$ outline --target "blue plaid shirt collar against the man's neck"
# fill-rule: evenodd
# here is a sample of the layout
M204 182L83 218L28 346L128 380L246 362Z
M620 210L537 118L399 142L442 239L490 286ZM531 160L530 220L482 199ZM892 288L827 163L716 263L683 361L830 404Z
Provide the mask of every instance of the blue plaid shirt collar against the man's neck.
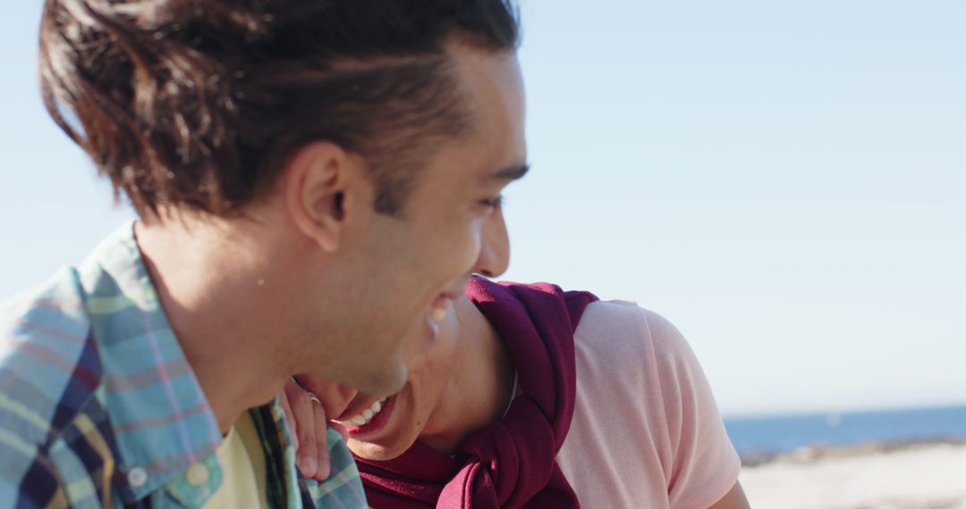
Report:
M117 484L125 498L140 499L210 463L221 433L158 301L133 222L104 239L78 275L118 446ZM215 471L199 487L202 498L220 482L216 462L209 466Z

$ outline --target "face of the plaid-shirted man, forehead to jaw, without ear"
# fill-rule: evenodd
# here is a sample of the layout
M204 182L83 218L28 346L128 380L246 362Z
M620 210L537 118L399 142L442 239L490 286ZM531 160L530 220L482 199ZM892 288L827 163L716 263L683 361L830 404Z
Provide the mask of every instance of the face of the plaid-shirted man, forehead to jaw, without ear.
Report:
M473 272L502 272L481 267L481 253L484 230L496 221L487 201L521 174L507 169L526 165L519 63L512 53L457 42L451 54L466 88L471 133L431 147L401 214L373 211L371 182L356 195L358 201L369 201L357 203L368 208L347 232L342 253L334 257L337 267L322 289L338 296L327 297L327 308L320 311L327 324L316 322L319 335L331 345L331 359L325 362L329 372L317 364L304 366L312 370L306 374L373 395L398 390L406 380L406 353L432 342L427 333L432 303L460 295ZM501 230L501 216L498 222ZM323 341L316 337L313 342Z

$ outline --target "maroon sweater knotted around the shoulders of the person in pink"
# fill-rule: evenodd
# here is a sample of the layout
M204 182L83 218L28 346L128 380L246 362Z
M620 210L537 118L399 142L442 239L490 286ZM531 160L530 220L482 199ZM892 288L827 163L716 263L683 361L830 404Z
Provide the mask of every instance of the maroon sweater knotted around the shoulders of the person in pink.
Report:
M516 365L522 394L452 457L422 442L390 461L355 458L377 508L576 508L556 464L577 394L574 331L597 298L554 284L474 278L469 300L493 324Z

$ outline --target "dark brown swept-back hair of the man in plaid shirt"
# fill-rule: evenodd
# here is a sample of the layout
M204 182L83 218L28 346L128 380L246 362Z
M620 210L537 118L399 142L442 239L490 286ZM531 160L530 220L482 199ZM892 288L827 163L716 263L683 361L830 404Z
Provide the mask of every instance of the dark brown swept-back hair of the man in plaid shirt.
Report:
M447 43L519 45L510 0L46 0L43 100L138 213L230 215L295 151L361 155L397 213L469 131ZM431 153L431 152L430 152Z

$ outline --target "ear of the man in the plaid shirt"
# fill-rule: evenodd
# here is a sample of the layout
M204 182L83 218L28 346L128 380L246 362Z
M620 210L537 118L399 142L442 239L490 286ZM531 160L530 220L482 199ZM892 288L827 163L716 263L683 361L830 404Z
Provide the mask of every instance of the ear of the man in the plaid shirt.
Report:
M331 142L298 149L285 169L285 198L296 226L329 253L339 248L347 189L361 174L361 158Z

